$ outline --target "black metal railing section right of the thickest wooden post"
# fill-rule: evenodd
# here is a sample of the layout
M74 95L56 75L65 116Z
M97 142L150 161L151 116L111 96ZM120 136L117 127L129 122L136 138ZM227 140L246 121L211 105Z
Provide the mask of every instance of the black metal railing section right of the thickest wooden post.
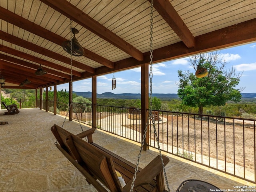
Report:
M162 150L204 166L256 182L253 119L158 111ZM152 124L150 145L157 147Z

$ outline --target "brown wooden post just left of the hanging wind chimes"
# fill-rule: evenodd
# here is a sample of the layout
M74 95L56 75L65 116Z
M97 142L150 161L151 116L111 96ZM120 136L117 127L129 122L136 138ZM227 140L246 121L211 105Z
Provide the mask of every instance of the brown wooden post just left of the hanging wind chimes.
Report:
M97 128L97 77L92 76L92 128Z

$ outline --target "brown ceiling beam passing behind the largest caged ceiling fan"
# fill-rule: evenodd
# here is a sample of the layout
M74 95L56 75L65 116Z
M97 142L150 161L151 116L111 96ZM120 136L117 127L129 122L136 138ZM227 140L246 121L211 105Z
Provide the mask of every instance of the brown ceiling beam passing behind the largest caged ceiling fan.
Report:
M67 41L67 39L61 36L58 36L57 34L49 30L46 30L45 28L37 24L34 24L33 22L26 20L25 18L22 18L21 16L16 15L13 12L10 12L9 10L4 9L2 7L0 7L0 19L5 20L8 23L18 26L24 30L27 30L35 35L38 35L60 46L62 46L62 42ZM83 48L83 49L84 49L85 57L91 60L94 60L106 67L114 68L114 63L112 61L107 60L106 58L99 56L94 52L87 50L86 48ZM90 70L86 70L86 71L90 72Z

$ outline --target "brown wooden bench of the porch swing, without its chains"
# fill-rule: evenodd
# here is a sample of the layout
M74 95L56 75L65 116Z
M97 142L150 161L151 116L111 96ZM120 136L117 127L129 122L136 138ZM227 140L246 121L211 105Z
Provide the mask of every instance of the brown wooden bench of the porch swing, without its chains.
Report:
M58 125L51 128L58 143L56 147L68 160L84 175L87 182L92 184L99 192L129 192L136 165L109 150L93 143L92 128L74 135ZM87 137L88 142L82 140ZM162 156L164 166L169 158ZM124 187L118 180L117 173L122 175L126 182ZM100 184L100 181L102 184ZM145 168L138 169L134 191L136 192L167 192L164 189L164 175L160 155L152 160Z

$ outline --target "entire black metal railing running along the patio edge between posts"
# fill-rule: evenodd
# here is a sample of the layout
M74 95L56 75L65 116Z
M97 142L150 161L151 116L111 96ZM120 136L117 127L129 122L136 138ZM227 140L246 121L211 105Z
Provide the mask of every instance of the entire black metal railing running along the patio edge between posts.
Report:
M67 104L58 102L57 108L66 115ZM98 129L141 142L140 109L96 105L96 110ZM153 115L161 150L256 183L256 120L161 110ZM73 119L91 126L92 104L73 103ZM148 132L149 145L157 148L152 120Z

